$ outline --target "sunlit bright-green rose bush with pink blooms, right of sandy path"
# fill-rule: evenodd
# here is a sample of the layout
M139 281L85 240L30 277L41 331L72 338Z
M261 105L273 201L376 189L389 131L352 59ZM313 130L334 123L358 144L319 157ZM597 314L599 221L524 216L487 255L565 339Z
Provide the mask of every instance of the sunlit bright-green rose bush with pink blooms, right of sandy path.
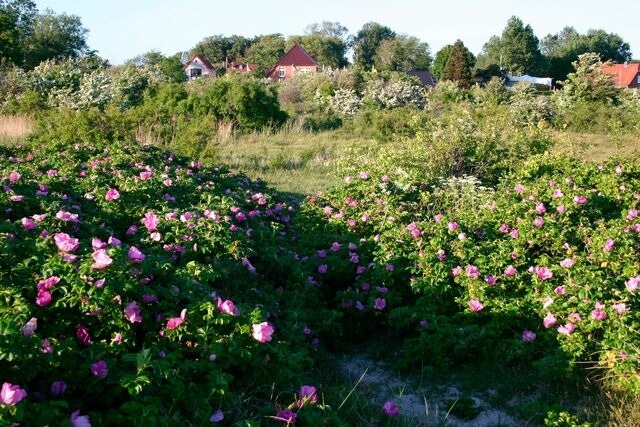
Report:
M359 242L366 266L336 295L347 313L376 316L368 330L403 342L406 367L533 363L548 378L590 372L638 392L639 171L635 160L541 155L492 189L389 168L303 212Z

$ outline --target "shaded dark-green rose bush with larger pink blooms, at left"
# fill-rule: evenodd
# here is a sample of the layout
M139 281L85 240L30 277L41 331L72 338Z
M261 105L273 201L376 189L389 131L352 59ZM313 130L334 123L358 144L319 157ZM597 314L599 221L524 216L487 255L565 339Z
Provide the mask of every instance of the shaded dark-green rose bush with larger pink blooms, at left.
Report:
M335 317L288 247L294 206L171 153L47 139L0 152L0 423L271 414Z

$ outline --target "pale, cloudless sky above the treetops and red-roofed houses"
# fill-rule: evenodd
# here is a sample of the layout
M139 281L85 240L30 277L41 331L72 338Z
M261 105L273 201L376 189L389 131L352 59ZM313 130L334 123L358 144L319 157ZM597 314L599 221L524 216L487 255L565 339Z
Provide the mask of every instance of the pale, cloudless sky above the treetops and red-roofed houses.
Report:
M432 56L457 39L474 54L511 16L542 39L566 26L618 34L640 59L640 1L609 0L36 0L39 11L79 16L90 49L113 65L150 50L188 51L208 36L304 34L323 21L356 34L377 22L428 43Z

